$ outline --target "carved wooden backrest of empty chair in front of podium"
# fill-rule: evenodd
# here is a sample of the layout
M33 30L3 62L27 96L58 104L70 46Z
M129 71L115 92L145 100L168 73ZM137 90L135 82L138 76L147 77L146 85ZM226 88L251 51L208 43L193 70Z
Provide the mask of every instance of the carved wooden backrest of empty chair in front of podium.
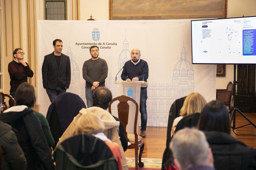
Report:
M129 118L129 104L127 102L131 101L135 104L136 110L135 110L135 119L134 119L134 134L135 134L135 141L138 141L138 133L137 133L137 119L138 119L138 112L139 112L138 103L134 99L132 99L128 96L125 96L125 95L118 96L116 98L113 98L111 100L111 102L109 103L108 110L109 110L110 114L112 114L111 113L111 104L117 100L119 101L119 103L117 104L118 118L124 125L126 139L128 139L127 132L126 132L126 126L128 124L128 118Z

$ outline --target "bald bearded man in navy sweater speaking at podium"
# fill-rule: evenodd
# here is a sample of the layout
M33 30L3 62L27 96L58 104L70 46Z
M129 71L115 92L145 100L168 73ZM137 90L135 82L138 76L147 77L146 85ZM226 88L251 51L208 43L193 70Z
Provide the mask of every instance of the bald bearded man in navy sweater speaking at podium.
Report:
M121 78L124 81L147 81L148 79L148 63L140 59L140 50L131 50L131 60L126 61L124 70L122 71ZM141 118L141 129L140 136L146 137L146 126L147 126L147 87L140 88L140 118Z

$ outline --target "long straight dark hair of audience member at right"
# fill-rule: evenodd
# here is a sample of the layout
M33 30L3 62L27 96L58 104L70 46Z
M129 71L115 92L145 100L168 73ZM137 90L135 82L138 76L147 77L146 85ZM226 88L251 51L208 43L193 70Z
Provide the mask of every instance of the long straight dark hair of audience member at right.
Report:
M207 103L201 112L198 129L230 134L230 119L225 104L217 100Z

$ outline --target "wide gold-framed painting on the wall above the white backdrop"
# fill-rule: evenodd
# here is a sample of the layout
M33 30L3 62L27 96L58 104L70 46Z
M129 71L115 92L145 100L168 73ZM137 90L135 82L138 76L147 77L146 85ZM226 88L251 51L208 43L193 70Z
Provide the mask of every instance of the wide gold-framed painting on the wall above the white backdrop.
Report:
M226 17L227 0L109 0L110 20Z

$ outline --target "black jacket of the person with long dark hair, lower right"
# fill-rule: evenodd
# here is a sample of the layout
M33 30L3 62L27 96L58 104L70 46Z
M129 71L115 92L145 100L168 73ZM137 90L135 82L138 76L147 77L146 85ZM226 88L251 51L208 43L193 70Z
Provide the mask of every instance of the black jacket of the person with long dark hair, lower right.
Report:
M216 170L256 169L256 149L247 147L227 133L218 131L204 133L213 153Z

